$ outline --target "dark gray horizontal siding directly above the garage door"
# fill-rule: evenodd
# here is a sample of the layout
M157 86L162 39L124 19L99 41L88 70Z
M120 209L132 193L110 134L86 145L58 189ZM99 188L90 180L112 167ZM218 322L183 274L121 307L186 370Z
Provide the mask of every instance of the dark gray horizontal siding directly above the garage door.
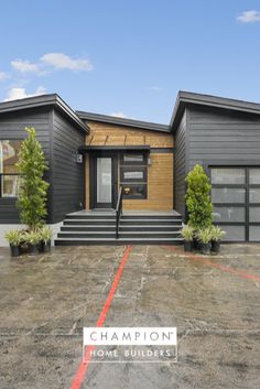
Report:
M188 169L196 163L260 163L260 117L217 108L188 108Z

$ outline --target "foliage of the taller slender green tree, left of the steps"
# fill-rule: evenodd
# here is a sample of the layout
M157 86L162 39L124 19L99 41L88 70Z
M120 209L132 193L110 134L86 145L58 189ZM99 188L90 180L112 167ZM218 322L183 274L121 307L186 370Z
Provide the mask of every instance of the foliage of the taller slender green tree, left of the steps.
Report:
M43 180L47 170L42 147L36 140L35 129L26 127L28 138L22 142L19 154L19 172L22 174L19 190L18 208L21 223L30 230L41 227L47 215L47 187Z

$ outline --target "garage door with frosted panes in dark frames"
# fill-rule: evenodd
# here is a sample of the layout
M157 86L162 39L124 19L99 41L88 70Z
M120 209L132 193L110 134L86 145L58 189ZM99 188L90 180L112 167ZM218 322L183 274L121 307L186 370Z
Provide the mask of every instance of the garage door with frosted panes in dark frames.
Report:
M260 241L260 166L210 166L214 223L228 241Z

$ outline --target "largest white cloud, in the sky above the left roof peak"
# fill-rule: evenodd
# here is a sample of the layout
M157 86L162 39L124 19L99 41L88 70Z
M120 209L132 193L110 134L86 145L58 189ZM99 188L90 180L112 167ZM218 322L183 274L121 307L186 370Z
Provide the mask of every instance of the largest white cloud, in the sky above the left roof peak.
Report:
M73 60L64 53L47 53L41 58L45 65L51 65L56 69L91 71L93 64L87 58Z

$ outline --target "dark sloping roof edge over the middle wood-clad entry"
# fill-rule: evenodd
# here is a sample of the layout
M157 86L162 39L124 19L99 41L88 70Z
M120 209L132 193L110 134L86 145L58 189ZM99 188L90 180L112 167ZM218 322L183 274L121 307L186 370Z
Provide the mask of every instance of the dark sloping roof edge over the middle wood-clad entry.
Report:
M115 116L109 115L100 115L100 114L91 114L85 111L77 111L76 114L83 120L88 121L98 121L109 125L120 125L124 127L132 127L132 128L140 128L151 131L160 131L160 132L171 132L171 128L167 125L160 125L149 121L141 121L134 119L127 119L127 118L117 118Z

